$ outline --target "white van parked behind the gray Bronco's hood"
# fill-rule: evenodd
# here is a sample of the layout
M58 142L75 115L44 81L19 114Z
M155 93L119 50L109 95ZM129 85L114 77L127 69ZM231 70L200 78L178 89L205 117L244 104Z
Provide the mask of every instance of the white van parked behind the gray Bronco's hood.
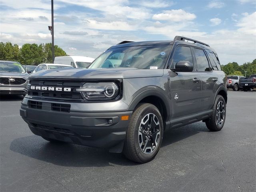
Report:
M93 60L94 58L83 56L62 56L55 57L54 63L71 65L75 68L86 68L89 64L91 64L91 62L93 62Z

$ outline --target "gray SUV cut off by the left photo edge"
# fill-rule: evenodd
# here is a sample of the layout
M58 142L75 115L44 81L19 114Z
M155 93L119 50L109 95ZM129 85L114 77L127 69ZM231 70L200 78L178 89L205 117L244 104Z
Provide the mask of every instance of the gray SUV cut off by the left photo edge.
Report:
M14 61L0 61L0 94L26 95L29 74Z

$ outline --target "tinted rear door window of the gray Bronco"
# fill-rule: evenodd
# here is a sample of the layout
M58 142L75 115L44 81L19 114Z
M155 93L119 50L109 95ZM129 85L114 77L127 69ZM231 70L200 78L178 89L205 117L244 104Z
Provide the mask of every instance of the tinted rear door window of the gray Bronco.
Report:
M204 51L194 48L194 53L196 57L196 65L198 71L210 71L208 60L206 58L206 55L204 54Z

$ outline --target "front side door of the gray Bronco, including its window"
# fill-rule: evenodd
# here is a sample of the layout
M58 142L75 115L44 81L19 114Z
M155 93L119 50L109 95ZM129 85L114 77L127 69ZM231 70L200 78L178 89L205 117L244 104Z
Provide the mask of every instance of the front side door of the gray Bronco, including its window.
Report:
M179 61L189 61L194 65L192 50L189 46L177 46L171 60L171 68L174 69ZM200 98L202 93L202 81L200 75L192 72L173 72L170 70L170 97L172 119L200 111Z

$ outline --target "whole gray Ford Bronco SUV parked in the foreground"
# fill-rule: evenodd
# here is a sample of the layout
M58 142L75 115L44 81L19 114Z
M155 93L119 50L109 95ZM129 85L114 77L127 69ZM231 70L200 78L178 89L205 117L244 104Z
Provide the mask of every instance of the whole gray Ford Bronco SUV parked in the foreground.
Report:
M40 71L29 80L20 115L34 134L140 163L156 156L165 130L202 120L219 131L226 118L227 79L215 50L180 36L120 42L88 69Z

